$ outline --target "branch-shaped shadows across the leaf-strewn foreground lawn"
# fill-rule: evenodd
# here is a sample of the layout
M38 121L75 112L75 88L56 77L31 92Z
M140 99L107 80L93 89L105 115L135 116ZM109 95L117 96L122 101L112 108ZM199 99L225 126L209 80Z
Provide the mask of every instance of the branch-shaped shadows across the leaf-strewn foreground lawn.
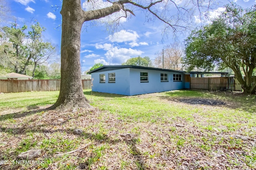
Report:
M34 112L32 112L34 113ZM77 119L78 117L74 117L72 119ZM61 121L58 123L51 123L52 126L57 126L57 125L63 125L64 123L67 123L69 120L66 121ZM73 129L68 128L68 129L44 129L44 127L47 127L49 124L41 124L41 125L33 125L33 126L26 126L26 127L14 127L14 128L1 128L2 132L8 133L10 135L26 135L26 133L42 133L46 138L49 140L52 138L51 134L53 133L61 133L61 134L68 134L68 135L74 135L73 134ZM115 145L118 143L126 143L126 146L128 149L130 149L130 154L134 158L134 161L136 163L136 166L138 170L145 170L146 166L144 165L143 161L143 153L137 148L136 143L138 143L138 139L136 137L132 138L122 138L121 139L111 139L108 135L102 134L102 133L82 133L79 136L83 139L90 139L93 141L92 145L96 144L108 144L108 145ZM3 155L4 153L2 153ZM17 153L14 153L17 154ZM11 155L8 155L11 156ZM84 160L82 162L79 162L79 167L82 169L88 169L88 167L95 162L89 162L89 160L93 160L95 155L91 154L88 155L88 159ZM1 157L0 157L1 158Z

